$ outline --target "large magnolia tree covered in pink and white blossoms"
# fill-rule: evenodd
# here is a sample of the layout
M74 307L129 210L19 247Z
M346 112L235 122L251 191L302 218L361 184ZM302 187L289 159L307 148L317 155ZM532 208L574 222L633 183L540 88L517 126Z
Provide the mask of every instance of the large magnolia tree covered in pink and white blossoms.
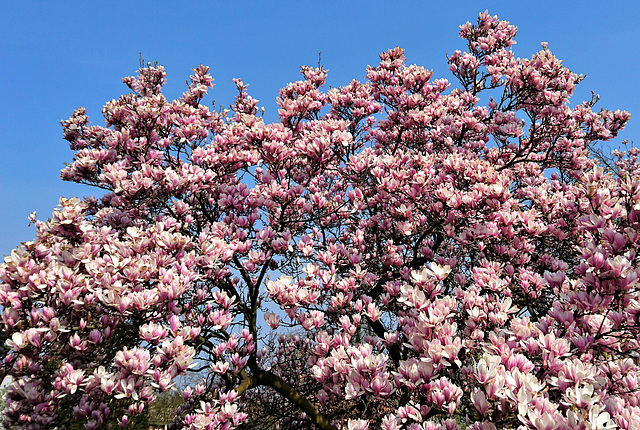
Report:
M106 194L0 266L7 424L126 428L193 380L174 428L637 429L638 151L593 155L629 114L515 34L461 26L455 88L399 48L302 67L273 124L203 66L76 110L62 178Z

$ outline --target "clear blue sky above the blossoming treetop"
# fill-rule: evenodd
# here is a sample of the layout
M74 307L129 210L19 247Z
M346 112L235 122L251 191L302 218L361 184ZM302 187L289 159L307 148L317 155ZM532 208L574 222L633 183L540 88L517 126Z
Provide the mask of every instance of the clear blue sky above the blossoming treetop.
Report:
M594 90L601 106L631 112L621 138L640 144L640 3L616 1L11 1L0 17L0 254L33 238L27 215L49 217L60 196L95 190L59 179L72 153L59 122L84 106L102 124L104 102L126 91L139 53L163 64L168 97L192 67L211 66L212 98L229 105L242 78L273 120L277 90L299 66L322 63L328 83L362 79L397 45L409 63L450 78L446 52L463 49L458 26L488 9L517 25L516 55L549 48L586 74L574 102ZM618 139L618 142L621 140Z

